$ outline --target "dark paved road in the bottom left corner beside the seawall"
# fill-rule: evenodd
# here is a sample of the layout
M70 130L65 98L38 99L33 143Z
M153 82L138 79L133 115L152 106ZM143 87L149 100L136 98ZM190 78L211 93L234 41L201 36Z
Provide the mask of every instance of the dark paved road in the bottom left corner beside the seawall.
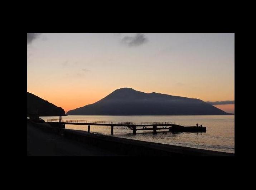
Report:
M120 156L118 153L44 132L30 123L27 125L27 135L28 156Z

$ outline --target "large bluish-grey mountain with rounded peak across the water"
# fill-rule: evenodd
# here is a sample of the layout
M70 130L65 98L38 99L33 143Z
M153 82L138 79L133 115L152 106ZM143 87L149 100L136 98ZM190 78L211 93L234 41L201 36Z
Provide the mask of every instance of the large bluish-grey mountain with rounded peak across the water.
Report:
M233 115L200 99L120 88L67 115Z

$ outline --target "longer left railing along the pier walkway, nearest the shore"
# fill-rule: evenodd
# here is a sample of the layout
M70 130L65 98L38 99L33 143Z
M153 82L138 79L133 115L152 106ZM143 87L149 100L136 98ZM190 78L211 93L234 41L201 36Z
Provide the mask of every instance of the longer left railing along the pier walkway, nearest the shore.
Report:
M86 121L86 120L70 120L70 119L62 119L62 120L47 119L47 122L134 125L134 123L132 122L106 122L106 121Z

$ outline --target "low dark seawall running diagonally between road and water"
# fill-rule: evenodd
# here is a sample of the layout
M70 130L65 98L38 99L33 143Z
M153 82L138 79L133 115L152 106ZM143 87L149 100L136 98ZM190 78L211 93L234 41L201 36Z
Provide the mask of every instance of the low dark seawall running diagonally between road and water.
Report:
M79 130L51 127L49 124L33 124L44 131L64 135L65 138L77 140L106 150L114 150L129 156L234 156L233 153L217 152L175 145L145 142L140 140L111 137L87 133Z

